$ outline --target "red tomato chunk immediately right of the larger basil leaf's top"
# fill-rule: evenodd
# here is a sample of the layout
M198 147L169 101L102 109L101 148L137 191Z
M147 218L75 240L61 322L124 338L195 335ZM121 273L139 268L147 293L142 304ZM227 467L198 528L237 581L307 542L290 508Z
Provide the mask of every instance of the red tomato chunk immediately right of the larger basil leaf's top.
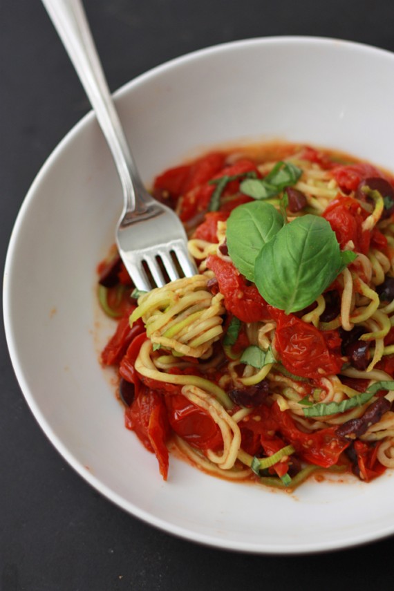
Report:
M362 229L362 223L368 216L353 197L335 198L323 212L323 218L337 236L339 246L343 249L348 241L353 241L355 250L366 254L370 245L370 232Z

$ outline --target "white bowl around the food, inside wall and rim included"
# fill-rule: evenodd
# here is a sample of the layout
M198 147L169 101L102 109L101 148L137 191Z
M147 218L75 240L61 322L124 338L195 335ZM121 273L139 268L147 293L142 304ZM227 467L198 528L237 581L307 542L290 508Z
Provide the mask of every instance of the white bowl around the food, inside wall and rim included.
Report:
M332 39L252 39L160 66L116 95L144 180L223 143L308 142L394 169L394 55ZM393 474L308 482L294 494L235 484L156 458L124 428L98 362L109 328L95 265L113 242L120 183L90 114L55 149L12 233L8 346L26 400L62 456L126 511L232 550L329 550L394 532Z

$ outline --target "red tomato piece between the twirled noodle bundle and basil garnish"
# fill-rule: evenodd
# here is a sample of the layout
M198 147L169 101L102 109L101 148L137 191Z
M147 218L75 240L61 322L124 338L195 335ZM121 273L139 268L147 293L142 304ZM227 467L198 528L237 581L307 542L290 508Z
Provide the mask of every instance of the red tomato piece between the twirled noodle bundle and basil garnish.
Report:
M218 280L219 291L225 298L225 308L243 322L268 319L267 303L259 294L256 285L247 285L246 279L233 263L216 255L209 255L207 268Z

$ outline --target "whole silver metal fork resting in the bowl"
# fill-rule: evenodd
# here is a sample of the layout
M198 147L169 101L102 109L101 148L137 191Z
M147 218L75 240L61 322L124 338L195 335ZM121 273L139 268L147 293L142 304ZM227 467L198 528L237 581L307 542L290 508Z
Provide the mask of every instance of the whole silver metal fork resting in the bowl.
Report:
M116 228L119 254L138 290L196 274L185 229L176 214L144 188L111 99L80 0L42 0L93 106L122 183L124 207Z

